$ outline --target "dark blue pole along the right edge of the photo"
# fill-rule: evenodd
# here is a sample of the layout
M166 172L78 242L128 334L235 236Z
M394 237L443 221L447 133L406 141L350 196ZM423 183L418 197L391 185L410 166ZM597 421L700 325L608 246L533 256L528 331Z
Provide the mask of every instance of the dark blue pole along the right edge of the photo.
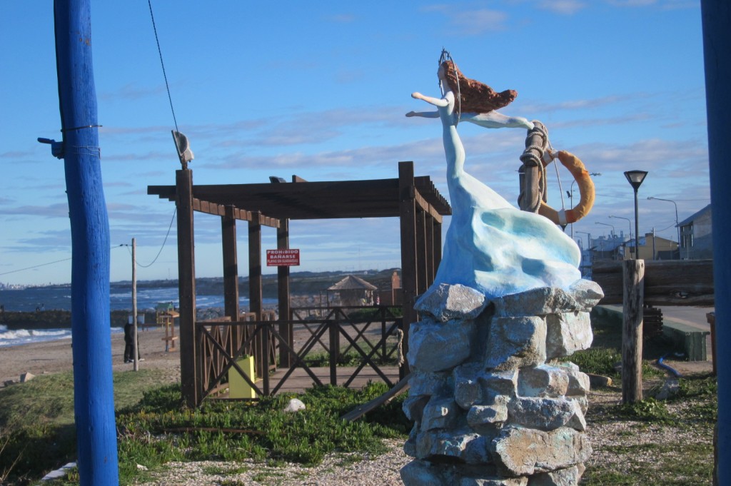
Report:
M708 113L708 159L711 167L713 218L713 284L716 294L716 343L731 340L731 4L702 0L705 99ZM719 421L716 468L718 482L731 484L731 355L716 353L719 381Z

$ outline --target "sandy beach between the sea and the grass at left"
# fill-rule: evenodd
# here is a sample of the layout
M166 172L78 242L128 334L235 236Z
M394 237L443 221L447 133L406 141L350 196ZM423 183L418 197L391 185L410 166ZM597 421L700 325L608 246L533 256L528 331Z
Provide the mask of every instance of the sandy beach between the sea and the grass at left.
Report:
M177 335L178 330L175 330ZM165 378L171 382L180 381L180 354L177 350L165 352L162 341L165 332L160 327L149 327L139 332L140 354L144 361L139 363L140 369L165 370ZM112 340L113 371L132 370L132 364L124 362L124 333L114 333ZM0 386L6 381L20 381L22 373L30 372L38 376L43 373L71 371L73 358L71 339L45 341L41 343L20 344L0 348Z

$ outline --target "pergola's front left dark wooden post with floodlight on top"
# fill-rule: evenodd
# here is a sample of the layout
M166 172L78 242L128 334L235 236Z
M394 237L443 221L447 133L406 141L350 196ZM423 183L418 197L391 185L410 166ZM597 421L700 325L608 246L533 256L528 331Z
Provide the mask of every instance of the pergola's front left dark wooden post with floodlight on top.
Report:
M187 406L202 397L198 365L199 334L195 328L195 253L193 236L193 172L175 171L178 206L178 299L180 300L181 392Z

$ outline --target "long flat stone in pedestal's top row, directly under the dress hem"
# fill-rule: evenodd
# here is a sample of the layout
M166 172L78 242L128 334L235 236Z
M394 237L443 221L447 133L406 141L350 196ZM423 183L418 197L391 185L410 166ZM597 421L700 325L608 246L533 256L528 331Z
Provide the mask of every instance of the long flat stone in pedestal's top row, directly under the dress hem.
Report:
M499 317L546 316L574 311L579 306L574 297L559 287L540 287L491 302L495 305L495 315Z

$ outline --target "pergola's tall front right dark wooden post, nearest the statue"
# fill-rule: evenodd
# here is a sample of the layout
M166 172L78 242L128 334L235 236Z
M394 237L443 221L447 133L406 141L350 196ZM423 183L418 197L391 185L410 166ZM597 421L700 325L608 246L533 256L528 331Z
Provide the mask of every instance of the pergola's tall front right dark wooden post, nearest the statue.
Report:
M409 352L409 326L417 322L414 301L417 295L417 243L416 243L416 188L414 187L414 163L398 163L398 198L401 216L401 295L404 307L404 356ZM404 378L409 374L406 362L399 371Z

